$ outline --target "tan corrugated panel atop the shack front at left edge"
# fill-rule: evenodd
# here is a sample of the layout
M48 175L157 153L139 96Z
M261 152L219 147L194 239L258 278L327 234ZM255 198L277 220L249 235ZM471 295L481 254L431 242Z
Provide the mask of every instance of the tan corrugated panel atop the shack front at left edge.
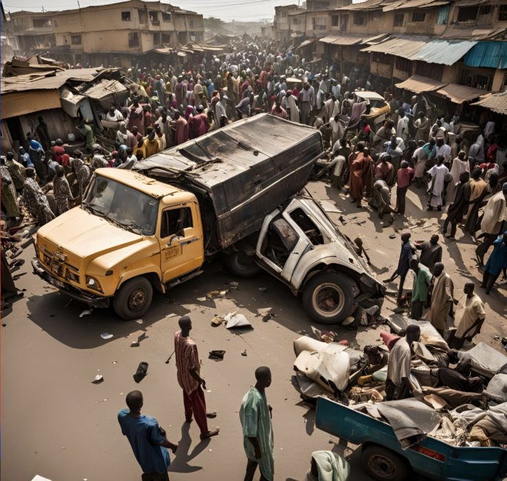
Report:
M13 92L2 95L2 119L48 109L59 109L60 107L62 104L58 89Z

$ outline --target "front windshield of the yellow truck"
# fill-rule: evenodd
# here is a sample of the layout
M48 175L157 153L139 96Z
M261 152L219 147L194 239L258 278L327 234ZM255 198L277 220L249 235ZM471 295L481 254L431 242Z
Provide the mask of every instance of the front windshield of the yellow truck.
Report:
M82 208L136 234L153 236L158 204L158 199L124 183L95 175Z

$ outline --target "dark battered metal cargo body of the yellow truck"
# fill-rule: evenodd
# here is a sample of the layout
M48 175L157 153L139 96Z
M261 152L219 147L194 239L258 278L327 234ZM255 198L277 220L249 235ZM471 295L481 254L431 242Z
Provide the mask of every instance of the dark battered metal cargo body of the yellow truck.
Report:
M323 154L315 128L264 113L164 150L135 170L196 194L212 251L260 230L264 216L304 187Z

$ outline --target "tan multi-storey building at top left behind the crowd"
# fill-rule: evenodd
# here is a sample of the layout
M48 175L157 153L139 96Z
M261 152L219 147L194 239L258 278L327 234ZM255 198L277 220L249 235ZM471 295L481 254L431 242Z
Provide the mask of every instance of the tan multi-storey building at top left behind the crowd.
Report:
M199 42L203 16L159 1L129 0L61 12L11 15L21 52L43 53L71 64L130 67L160 47Z

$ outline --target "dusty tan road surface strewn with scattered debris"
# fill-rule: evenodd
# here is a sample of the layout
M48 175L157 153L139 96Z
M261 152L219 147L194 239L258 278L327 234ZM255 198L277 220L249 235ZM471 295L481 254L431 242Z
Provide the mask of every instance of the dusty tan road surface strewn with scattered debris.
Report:
M315 197L337 202L346 219L343 232L352 238L363 236L377 272L385 267L390 272L394 269L400 240L399 236L392 240L389 235L394 228L401 229L403 219L383 229L376 214L358 210L326 184L311 183L309 190ZM412 230L412 238L427 240L437 231L440 213L421 211L421 204L417 192L409 192L407 216L427 219L425 225L429 224ZM460 235L458 230L458 243L444 244L444 263L455 282L455 297L462 304L464 282L477 281L480 275L473 267L475 246L469 238L460 239ZM143 411L159 420L170 440L179 442L177 456L172 456L171 480L241 480L245 456L238 409L243 394L254 383L255 368L261 365L270 366L273 372L267 396L273 406L275 479L301 480L312 451L340 451L336 438L315 429L313 412L299 403L291 385L292 340L297 331L310 331L310 321L300 300L273 278L262 275L251 280L235 279L221 265L213 264L203 276L173 289L166 297L157 295L142 321L122 322L112 311L94 311L79 317L79 306L67 305L67 298L32 275L32 253L32 247L23 253L25 265L16 272L16 283L19 289L26 289L25 296L5 311L2 319L3 480L31 480L37 473L54 481L139 480L139 467L116 420L117 411L125 407L125 394L133 389L144 393ZM379 276L388 277L386 273ZM239 287L225 298L197 300L208 291L227 289L225 282L231 280L238 281ZM411 282L407 278L406 287ZM266 287L267 292L259 287ZM507 334L505 296L505 284L499 293L484 296L486 325L477 339L498 349L502 346L493 336ZM258 313L269 307L276 317L264 323ZM387 300L383 315L389 315L392 308L394 304ZM253 330L234 334L223 326L210 326L215 314L235 310L249 318ZM172 353L177 319L185 313L190 313L193 320L192 337L203 363L208 407L218 411L210 426L221 427L220 436L206 442L199 441L194 423L190 427L183 423L174 359L165 363ZM378 329L338 331L350 340L357 335L361 345L379 339ZM104 340L101 333L113 337ZM131 347L138 339L139 347ZM226 350L225 359L207 359L212 349ZM247 357L241 355L245 349ZM148 376L136 384L132 376L139 361L149 363ZM102 374L104 382L91 383L95 374ZM369 480L361 470L359 457L359 450L352 455L351 479Z

